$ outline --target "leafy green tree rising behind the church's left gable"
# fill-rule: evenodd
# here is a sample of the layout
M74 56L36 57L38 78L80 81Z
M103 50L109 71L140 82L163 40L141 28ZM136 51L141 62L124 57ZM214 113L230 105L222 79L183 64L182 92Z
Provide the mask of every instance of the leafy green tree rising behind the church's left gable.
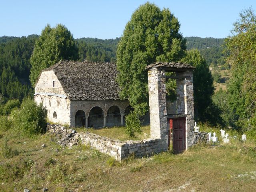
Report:
M55 28L47 25L34 47L30 59L30 82L35 85L41 70L52 66L59 60L76 60L78 51L71 32L62 24Z

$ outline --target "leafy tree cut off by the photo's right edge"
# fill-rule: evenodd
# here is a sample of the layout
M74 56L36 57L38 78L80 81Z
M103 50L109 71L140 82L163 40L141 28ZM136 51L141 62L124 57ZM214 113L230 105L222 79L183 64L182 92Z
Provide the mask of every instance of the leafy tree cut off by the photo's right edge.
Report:
M256 16L252 8L240 13L226 44L230 52L227 61L232 72L228 84L228 106L238 116L237 126L246 127L248 119L252 124L256 119Z

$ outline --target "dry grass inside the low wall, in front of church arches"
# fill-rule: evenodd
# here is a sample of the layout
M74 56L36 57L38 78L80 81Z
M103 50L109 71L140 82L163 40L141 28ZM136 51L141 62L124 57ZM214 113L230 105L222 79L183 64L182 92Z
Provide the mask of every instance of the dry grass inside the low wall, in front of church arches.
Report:
M110 128L102 128L102 129L85 129L78 128L76 129L78 132L86 131L91 132L97 135L105 136L108 138L112 138L115 140L142 140L150 137L150 126L142 126L141 133L137 133L135 137L130 138L125 134L125 127L110 127Z

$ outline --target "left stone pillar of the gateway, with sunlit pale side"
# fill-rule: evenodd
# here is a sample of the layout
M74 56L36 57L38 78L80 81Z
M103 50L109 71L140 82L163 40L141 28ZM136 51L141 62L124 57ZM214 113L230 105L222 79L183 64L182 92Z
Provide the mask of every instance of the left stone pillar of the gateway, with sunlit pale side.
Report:
M162 150L168 148L165 71L148 70L148 94L151 138L162 140Z

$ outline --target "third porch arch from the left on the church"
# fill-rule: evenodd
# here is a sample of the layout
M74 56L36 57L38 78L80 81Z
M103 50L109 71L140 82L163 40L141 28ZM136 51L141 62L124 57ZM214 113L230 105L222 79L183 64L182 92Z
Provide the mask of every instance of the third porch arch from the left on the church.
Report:
M121 125L121 113L120 108L116 105L108 108L106 116L106 126L120 126Z

